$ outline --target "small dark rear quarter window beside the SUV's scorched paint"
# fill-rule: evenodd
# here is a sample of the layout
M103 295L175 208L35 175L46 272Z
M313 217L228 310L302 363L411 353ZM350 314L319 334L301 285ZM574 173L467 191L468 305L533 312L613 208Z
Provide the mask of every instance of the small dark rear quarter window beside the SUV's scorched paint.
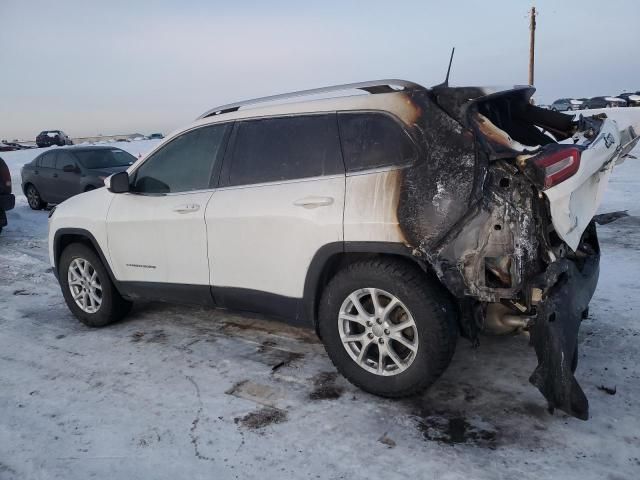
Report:
M406 165L415 160L409 135L383 113L340 113L340 137L347 171Z

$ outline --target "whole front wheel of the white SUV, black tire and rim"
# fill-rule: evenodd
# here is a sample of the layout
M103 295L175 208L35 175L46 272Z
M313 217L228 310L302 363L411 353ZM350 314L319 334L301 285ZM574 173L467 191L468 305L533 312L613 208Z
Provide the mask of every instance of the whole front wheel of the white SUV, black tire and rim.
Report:
M78 261L79 263L74 263ZM94 282L99 284L99 291L95 289L95 297L89 294L82 295L79 302L84 302L87 308L83 308L74 299L71 287L69 286L70 275L69 270L76 274L76 279L82 278L79 275L79 266L84 266L87 275L93 275L95 272ZM107 269L104 267L96 252L82 243L72 243L64 249L60 257L58 265L58 274L62 295L69 310L75 317L88 327L104 327L110 323L117 322L124 318L131 311L132 303L122 298L118 290L113 285ZM85 279L86 280L86 279ZM73 286L74 292L83 293L83 286L89 287L89 283L85 282L81 285ZM99 298L99 304L93 298Z

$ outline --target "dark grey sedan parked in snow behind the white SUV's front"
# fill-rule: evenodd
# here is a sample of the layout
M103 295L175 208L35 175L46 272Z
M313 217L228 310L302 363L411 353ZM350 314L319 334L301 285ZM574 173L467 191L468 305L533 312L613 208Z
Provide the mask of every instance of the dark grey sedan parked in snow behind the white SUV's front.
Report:
M126 170L136 158L106 146L78 146L44 152L21 170L22 191L29 206L41 210L48 203L104 186L109 175Z

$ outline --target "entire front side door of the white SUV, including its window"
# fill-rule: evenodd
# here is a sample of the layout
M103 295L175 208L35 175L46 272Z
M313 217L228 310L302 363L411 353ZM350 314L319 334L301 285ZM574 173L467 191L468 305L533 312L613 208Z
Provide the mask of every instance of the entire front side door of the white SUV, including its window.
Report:
M130 172L131 191L117 194L107 215L109 254L118 280L164 284L158 288L167 290L175 286L177 291L206 286L208 292L204 214L230 128L215 125L182 133Z

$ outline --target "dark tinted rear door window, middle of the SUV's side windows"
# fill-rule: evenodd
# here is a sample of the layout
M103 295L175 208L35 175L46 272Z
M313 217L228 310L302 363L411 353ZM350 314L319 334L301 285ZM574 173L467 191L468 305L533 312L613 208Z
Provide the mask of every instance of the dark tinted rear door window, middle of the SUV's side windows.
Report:
M344 173L335 114L237 123L230 185Z

